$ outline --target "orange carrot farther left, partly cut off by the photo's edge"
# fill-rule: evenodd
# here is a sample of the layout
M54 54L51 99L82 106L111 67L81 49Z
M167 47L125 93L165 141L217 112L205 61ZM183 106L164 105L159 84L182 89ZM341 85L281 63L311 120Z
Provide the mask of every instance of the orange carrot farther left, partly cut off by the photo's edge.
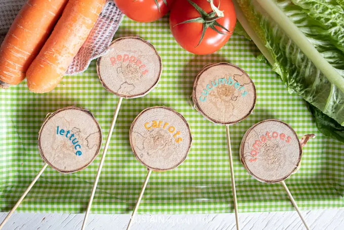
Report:
M25 78L27 68L47 41L67 2L26 2L0 47L0 81L16 85Z

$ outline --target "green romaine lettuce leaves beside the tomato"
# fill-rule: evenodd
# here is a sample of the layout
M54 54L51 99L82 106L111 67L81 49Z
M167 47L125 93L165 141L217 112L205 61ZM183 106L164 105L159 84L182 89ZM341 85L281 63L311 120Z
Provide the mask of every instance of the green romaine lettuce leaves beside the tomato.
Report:
M344 0L234 4L238 20L273 70L314 107L318 127L326 120L327 131L320 130L343 141L337 134L344 130Z

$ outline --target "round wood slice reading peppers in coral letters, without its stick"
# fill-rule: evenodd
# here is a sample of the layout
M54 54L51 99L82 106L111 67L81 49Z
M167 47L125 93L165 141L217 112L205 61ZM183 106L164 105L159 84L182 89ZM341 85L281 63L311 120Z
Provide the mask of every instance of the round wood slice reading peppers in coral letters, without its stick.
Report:
M144 54L144 51L149 51ZM138 57L142 62L140 69L134 62L118 61L118 55L127 54ZM116 63L112 65L111 59L116 57ZM121 64L121 67L119 65ZM129 65L130 64L130 65ZM115 67L113 67L116 65ZM116 68L116 69L115 69ZM119 73L119 70L121 73ZM123 73L123 70L127 73ZM143 75L143 71L148 70L148 73ZM129 73L131 71L131 73ZM111 93L123 98L136 98L144 96L149 93L159 83L162 74L162 61L158 51L153 45L138 37L124 37L114 40L107 52L97 60L97 74L101 84ZM117 80L116 80L117 79ZM128 82L129 81L129 82ZM127 92L120 92L122 86L126 83L128 87ZM139 89L137 89L139 87ZM131 90L130 90L131 89ZM124 89L123 89L124 90ZM134 90L136 90L134 92ZM129 93L132 92L132 93Z

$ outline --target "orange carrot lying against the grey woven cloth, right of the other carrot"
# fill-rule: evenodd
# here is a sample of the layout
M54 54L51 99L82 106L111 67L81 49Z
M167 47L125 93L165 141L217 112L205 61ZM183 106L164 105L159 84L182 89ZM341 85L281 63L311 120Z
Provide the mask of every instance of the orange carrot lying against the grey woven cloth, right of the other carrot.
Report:
M53 90L87 39L105 0L69 0L61 18L26 72L32 92Z

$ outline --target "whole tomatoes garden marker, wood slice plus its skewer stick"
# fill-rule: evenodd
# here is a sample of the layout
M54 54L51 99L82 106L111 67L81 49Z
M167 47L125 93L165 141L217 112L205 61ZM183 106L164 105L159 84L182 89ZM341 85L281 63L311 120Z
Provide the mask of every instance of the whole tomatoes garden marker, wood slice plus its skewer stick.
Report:
M240 160L249 174L261 182L281 182L304 226L301 215L284 180L295 173L302 156L302 147L315 135L305 135L301 141L288 124L275 119L261 121L247 130L240 145Z

